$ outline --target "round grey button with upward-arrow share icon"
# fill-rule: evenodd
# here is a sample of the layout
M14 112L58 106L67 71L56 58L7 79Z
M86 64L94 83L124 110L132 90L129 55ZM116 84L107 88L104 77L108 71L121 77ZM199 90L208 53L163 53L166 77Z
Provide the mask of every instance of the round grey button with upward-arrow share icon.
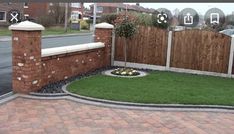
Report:
M179 24L186 27L196 27L199 23L199 15L192 8L183 9L178 16Z

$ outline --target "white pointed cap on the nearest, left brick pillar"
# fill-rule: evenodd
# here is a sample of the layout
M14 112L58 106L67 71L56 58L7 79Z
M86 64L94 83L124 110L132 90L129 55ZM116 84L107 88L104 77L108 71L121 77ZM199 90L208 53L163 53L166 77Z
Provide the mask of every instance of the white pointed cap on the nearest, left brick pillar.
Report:
M22 21L20 23L10 25L9 30L42 31L45 30L45 28L42 25L31 21Z

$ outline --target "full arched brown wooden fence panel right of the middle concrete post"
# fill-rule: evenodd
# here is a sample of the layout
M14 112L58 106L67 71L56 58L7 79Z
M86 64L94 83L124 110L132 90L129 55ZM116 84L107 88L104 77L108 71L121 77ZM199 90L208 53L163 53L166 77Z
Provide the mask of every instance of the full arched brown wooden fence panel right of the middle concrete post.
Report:
M227 73L231 37L204 30L174 32L171 67Z

